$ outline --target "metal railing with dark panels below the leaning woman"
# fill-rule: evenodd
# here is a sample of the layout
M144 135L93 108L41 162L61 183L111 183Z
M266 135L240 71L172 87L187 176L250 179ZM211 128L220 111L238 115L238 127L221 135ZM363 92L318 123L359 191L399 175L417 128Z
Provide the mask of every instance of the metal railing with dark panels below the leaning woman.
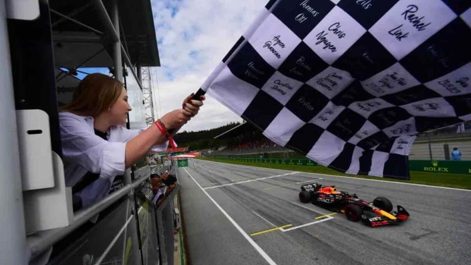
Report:
M160 206L148 198L153 196L150 173L169 170L176 174L176 165L169 161L161 167L136 170L131 184L75 212L69 226L29 235L30 264L173 265L174 229L179 228L174 202L180 185ZM143 196L146 191L148 196Z

